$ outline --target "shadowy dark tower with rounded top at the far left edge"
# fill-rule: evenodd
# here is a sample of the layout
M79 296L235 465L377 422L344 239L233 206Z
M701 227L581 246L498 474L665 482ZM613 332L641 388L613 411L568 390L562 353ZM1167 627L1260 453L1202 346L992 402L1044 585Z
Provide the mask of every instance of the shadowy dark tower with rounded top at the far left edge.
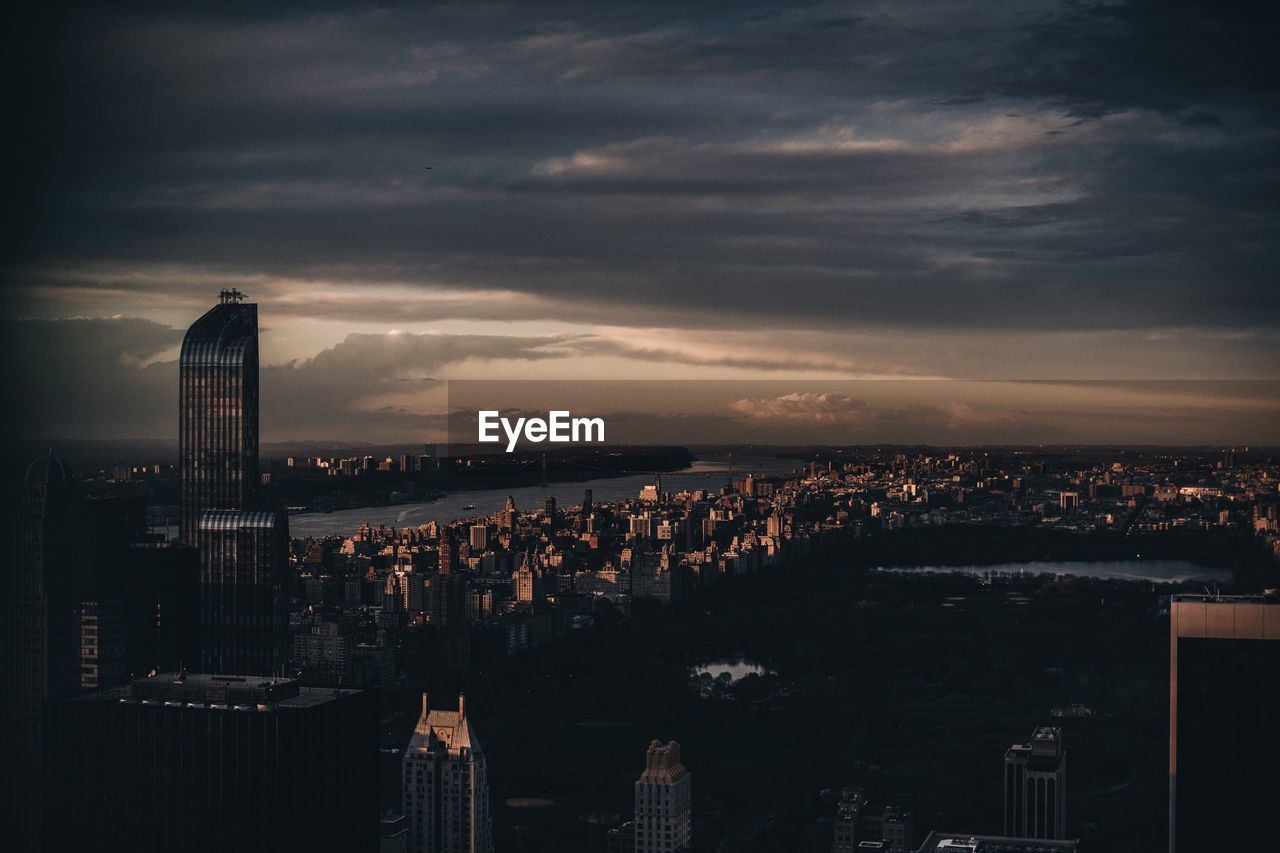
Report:
M45 701L79 689L73 567L83 512L70 470L50 452L26 471L13 540L4 669L4 772L12 849L40 849Z

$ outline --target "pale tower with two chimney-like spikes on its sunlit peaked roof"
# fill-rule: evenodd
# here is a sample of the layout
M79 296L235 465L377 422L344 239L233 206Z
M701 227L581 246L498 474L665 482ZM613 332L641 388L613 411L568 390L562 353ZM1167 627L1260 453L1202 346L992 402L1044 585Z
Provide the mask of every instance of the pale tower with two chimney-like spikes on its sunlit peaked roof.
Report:
M463 697L457 711L431 711L422 694L401 771L411 853L492 853L485 758Z

